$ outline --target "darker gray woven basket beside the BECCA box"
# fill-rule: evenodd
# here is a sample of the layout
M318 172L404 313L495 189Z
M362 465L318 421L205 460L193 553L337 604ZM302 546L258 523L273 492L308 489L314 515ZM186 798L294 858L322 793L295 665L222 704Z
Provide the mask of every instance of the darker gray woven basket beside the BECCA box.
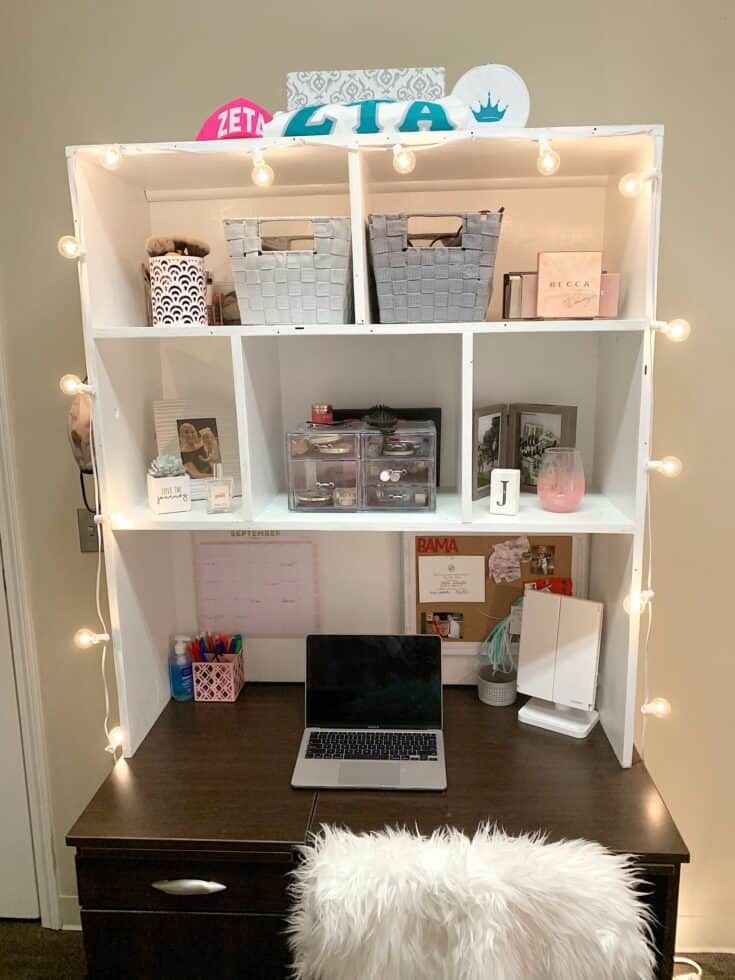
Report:
M409 245L409 218L462 221L461 244ZM493 286L501 211L404 211L368 216L381 323L484 320ZM417 235L421 238L447 236Z

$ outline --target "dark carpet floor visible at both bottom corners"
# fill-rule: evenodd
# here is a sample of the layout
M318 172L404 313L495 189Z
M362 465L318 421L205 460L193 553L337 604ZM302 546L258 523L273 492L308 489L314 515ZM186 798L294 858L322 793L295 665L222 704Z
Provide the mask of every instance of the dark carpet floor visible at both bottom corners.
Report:
M691 953L705 980L735 980L735 955ZM677 967L677 971L685 967ZM42 929L37 922L0 919L0 980L84 980L81 932Z

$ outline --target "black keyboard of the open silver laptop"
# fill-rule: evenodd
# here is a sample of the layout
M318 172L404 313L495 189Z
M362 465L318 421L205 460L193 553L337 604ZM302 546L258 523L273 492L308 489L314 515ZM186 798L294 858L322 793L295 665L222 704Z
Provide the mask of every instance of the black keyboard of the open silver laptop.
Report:
M431 732L312 732L306 758L436 762L436 735Z

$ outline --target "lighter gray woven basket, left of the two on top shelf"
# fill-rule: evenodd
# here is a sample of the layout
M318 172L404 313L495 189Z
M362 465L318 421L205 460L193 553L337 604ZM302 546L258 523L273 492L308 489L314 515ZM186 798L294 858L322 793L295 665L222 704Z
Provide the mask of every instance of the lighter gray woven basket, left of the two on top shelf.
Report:
M314 227L314 250L264 251L261 223L272 221L310 221ZM228 218L224 225L242 323L352 321L348 218ZM274 242L303 237L286 236Z

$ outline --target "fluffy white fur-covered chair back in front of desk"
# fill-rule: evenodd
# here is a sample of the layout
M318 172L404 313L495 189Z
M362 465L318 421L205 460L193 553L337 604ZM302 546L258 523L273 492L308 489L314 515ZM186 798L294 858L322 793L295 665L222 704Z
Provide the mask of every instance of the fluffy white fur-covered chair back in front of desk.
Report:
M299 980L650 980L632 858L481 827L324 827L294 873Z

